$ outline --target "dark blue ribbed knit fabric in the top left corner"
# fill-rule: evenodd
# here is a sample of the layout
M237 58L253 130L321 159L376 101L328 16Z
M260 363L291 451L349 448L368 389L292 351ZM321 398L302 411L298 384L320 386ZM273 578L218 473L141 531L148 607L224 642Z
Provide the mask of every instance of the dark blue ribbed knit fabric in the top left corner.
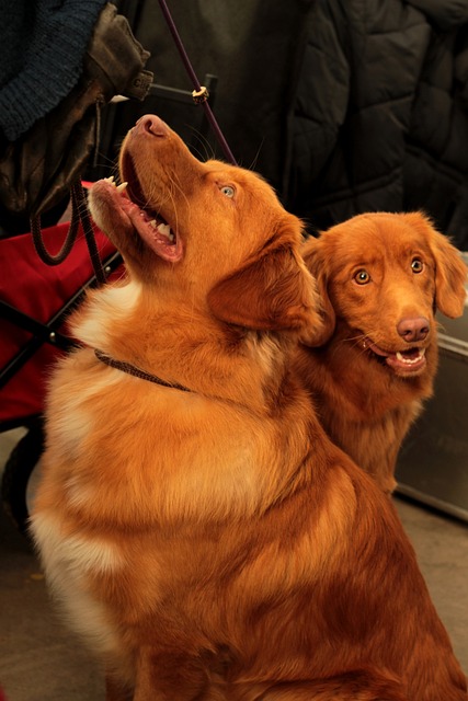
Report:
M14 141L76 85L105 0L0 0L0 128Z

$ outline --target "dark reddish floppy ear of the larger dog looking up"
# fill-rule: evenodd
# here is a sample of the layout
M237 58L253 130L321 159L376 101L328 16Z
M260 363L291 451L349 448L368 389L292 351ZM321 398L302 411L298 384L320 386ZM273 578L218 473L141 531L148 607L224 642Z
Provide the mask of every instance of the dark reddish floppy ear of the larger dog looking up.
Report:
M212 313L220 321L256 331L297 331L319 338L316 284L295 245L273 243L208 294Z

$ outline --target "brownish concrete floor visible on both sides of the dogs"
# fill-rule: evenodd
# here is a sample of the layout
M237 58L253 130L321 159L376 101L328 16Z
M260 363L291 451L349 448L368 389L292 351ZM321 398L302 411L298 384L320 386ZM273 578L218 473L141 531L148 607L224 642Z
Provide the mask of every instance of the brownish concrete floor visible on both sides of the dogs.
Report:
M0 434L0 471L16 440L16 432ZM396 501L468 673L468 526ZM0 687L8 701L102 701L99 665L56 617L34 553L1 508L0 561Z

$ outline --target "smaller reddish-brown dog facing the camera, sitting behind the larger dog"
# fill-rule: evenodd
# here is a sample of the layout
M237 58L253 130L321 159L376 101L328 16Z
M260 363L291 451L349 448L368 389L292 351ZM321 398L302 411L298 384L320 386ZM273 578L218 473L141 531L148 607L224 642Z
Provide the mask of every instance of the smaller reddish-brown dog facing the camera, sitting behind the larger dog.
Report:
M303 254L328 331L322 347L299 347L299 372L332 440L391 492L401 441L433 392L434 313L461 315L466 265L420 212L358 215Z

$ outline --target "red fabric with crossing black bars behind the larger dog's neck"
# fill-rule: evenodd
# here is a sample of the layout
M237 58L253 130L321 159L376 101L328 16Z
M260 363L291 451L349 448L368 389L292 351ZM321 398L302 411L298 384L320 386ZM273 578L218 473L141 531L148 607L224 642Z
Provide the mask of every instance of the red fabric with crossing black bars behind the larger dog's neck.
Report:
M52 254L60 250L68 227L69 222L65 222L43 229L45 245ZM95 227L94 235L105 265L115 248ZM93 274L81 227L71 253L56 266L43 263L31 233L0 239L0 371L34 337L3 318L1 303L8 302L35 320L49 323ZM123 274L122 267L118 274ZM66 326L60 331L66 333ZM43 343L7 383L0 383L0 430L22 425L23 421L43 412L47 377L62 353L50 343Z

